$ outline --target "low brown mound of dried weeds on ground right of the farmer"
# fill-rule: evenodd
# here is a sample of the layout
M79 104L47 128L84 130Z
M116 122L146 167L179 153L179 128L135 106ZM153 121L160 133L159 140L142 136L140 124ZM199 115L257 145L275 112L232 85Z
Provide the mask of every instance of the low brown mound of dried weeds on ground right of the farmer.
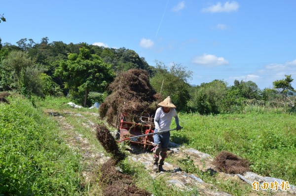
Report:
M250 170L250 163L247 159L240 158L227 151L222 151L213 163L220 171L229 174L243 174Z

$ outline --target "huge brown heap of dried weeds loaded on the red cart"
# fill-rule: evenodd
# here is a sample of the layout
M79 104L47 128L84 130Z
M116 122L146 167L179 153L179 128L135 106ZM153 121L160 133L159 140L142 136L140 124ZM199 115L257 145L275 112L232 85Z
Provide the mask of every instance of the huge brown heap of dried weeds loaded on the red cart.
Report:
M100 117L106 117L109 124L122 113L129 121L133 121L133 117L153 115L162 99L150 85L149 73L141 69L121 73L109 87L112 93L99 108Z

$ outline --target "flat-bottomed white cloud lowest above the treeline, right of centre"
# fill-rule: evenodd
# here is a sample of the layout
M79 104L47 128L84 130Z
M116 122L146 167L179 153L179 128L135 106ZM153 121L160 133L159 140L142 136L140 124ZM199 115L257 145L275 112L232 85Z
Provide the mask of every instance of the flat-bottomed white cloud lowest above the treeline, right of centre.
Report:
M223 57L217 57L212 54L203 54L202 56L194 57L192 63L201 65L226 65L228 64L228 61Z

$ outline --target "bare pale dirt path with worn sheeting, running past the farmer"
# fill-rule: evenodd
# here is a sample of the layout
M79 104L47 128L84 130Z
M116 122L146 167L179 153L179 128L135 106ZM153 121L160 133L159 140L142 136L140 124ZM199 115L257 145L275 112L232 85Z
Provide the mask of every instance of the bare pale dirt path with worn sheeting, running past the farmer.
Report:
M69 145L70 148L72 148L74 151L79 153L83 159L82 163L85 165L83 176L85 182L89 182L93 175L96 175L96 170L102 163L106 162L109 157L104 155L102 152L98 152L98 150L95 148L94 145L92 145L88 139L82 135L74 131L74 128L71 124L67 122L67 119L65 116L67 115L75 115L78 118L85 118L83 116L84 114L90 114L87 112L80 112L80 113L73 113L73 112L67 112L64 111L62 114L59 114L53 110L45 110L44 113L53 116L54 119L57 120L59 123L59 126L61 127L61 135L63 138L65 138L66 143ZM81 115L82 114L82 115ZM95 113L93 115L96 115ZM88 119L87 123L81 124L84 127L90 128L90 131L93 133L95 137L95 123ZM158 178L160 176L165 176L167 179L167 182L170 185L173 185L181 190L191 190L190 187L197 187L199 195L204 196L231 196L228 193L219 191L219 188L215 187L211 183L206 183L202 179L200 179L196 174L186 173L185 171L182 171L180 169L179 165L174 165L170 162L165 162L164 168L167 169L167 172L155 172L152 171L152 162L153 162L153 155L150 152L143 151L142 148L131 146L129 147L129 159L141 162L145 168L148 170L150 175L153 178ZM213 165L213 157L211 157L208 154L199 152L194 149L185 149L184 147L180 147L176 144L171 143L169 156L177 158L177 159L186 159L190 157L191 160L194 161L194 165L198 166L200 170L202 171L213 171L216 172L217 169L215 168L215 165ZM219 178L221 178L224 181L231 181L238 184L247 185L248 182L252 183L254 182L254 174L253 176L249 173L249 175L240 176L245 179L243 181L238 175L229 175L223 172L217 172ZM251 177L250 177L251 176ZM260 176L256 175L256 179L260 181ZM252 179L253 178L253 179ZM262 177L263 180L264 177ZM252 186L249 184L249 186ZM296 188L293 187L293 189L290 190L292 193L284 192L284 191L273 191L271 195L275 196L291 196L296 194ZM266 191L253 191L250 196L257 196L257 195L270 195L270 193L267 193Z

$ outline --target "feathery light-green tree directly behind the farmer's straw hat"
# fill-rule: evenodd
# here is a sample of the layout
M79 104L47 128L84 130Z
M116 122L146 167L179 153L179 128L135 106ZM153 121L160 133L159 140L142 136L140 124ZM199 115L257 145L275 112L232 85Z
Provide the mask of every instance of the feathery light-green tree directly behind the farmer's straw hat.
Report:
M186 111L190 99L190 85L187 80L191 78L192 72L176 64L170 69L162 62L156 62L156 65L156 74L150 81L152 87L163 97L171 96L179 111Z

